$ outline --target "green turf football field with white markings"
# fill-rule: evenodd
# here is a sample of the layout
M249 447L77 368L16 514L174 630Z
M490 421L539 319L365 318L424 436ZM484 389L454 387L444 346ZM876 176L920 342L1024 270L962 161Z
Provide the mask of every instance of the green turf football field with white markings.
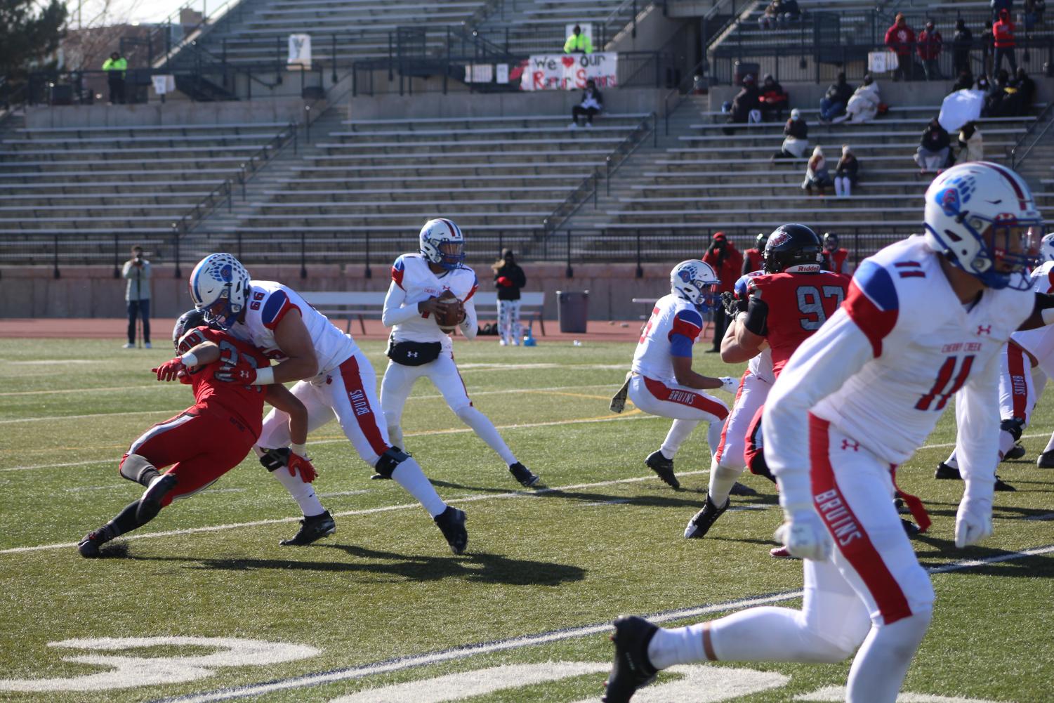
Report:
M335 535L279 546L299 512L253 458L112 558L83 560L77 541L141 492L117 473L123 450L191 403L186 386L150 373L169 350L118 346L0 340L0 700L599 701L621 613L686 624L800 603L800 562L768 556L781 516L768 482L747 475L758 497L735 500L705 540L681 536L704 499L705 431L677 458L684 490L644 466L669 421L607 407L631 344L455 345L476 407L542 476L536 491L418 383L407 449L468 513L462 556L409 494L370 481L333 424L309 451ZM382 344L364 348L383 373ZM696 364L740 371L710 354ZM938 599L902 700L1054 697L1054 470L1034 463L1051 429L1046 397L1027 457L999 469L1018 490L996 494L996 533L980 547L955 549L962 486L932 479L953 413L898 472L934 519L915 547ZM635 701L840 700L847 671L695 665Z

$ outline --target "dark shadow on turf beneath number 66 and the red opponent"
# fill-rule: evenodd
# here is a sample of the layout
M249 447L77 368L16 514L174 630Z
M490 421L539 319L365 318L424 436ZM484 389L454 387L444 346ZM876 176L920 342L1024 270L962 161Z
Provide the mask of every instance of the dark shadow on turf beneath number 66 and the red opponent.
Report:
M557 586L582 581L586 571L578 566L509 559L501 554L470 552L461 558L399 554L343 544L321 544L311 547L345 552L354 562L304 562L281 559L202 559L195 556L132 556L158 562L187 562L189 568L225 571L331 571L347 573L387 574L392 581L442 581L463 579L471 583L506 584L510 586ZM380 563L384 562L384 563Z

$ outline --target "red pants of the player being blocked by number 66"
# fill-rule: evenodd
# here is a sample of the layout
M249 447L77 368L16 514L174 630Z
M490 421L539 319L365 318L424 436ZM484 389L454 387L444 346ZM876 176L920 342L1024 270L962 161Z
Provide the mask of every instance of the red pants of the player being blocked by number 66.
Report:
M158 423L132 443L121 458L138 454L179 479L161 501L187 497L208 488L236 467L253 448L256 436L237 417L215 407L192 406Z

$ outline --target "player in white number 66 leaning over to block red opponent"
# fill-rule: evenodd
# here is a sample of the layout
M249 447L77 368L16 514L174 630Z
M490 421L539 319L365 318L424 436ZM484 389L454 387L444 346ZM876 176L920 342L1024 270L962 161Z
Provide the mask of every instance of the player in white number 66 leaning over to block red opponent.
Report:
M239 364L223 380L258 386L298 382L292 393L308 409L308 430L336 417L363 461L394 479L421 502L455 554L465 550L465 513L446 505L417 462L389 443L376 410L376 375L351 335L334 327L288 286L251 280L246 268L230 254L210 254L201 259L191 273L190 291L194 307L206 313L210 324L279 362L261 369ZM290 447L286 413L272 410L264 418L254 449L304 511L299 531L281 544L307 545L335 532L336 524L311 484L276 470L285 466L291 450L302 455L302 447Z

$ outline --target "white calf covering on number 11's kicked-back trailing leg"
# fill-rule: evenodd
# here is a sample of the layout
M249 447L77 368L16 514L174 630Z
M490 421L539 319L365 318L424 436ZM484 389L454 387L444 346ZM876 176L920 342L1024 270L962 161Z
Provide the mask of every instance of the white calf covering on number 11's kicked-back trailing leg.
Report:
M804 613L790 608L748 608L708 624L710 647L719 661L840 662L852 653L814 632ZM705 651L705 633L703 647Z

